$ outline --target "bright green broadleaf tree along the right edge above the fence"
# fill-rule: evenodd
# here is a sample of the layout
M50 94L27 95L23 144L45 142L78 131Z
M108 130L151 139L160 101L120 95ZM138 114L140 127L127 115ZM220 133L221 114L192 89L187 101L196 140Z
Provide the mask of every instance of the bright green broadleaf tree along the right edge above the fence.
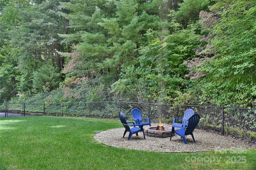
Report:
M218 106L255 107L256 2L218 1L203 12L201 25L208 45L200 53L194 90L202 101ZM212 19L210 19L212 18ZM206 24L204 21L212 21ZM190 63L191 64L191 63ZM193 63L192 63L193 65Z

